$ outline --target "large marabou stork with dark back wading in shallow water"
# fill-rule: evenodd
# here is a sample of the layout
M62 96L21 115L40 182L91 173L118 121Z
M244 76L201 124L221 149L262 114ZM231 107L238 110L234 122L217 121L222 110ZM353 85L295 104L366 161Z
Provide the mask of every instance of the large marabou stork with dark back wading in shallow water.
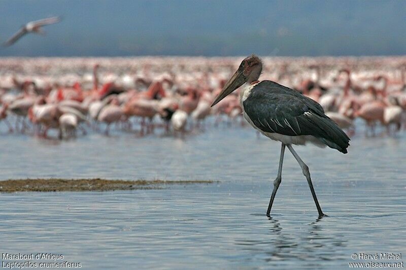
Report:
M325 215L317 200L309 167L301 160L292 145L304 145L310 142L319 147L328 146L337 149L345 154L350 139L334 121L324 114L320 104L276 82L258 81L261 72L262 61L259 57L251 55L245 58L215 98L212 106L243 86L240 92L240 104L244 118L269 139L282 143L278 175L274 181L274 190L270 196L266 216L270 217L270 209L282 181L283 157L287 147L308 181L319 218L322 218Z

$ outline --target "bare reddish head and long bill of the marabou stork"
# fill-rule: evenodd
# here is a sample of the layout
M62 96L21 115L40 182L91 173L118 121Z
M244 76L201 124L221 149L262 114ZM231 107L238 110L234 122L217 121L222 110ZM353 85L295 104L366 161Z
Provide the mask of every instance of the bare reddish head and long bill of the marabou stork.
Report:
M245 58L238 70L224 85L223 90L218 94L212 103L212 107L220 102L221 99L232 93L235 89L242 86L244 83L254 82L258 80L262 71L262 61L256 55L251 55Z

